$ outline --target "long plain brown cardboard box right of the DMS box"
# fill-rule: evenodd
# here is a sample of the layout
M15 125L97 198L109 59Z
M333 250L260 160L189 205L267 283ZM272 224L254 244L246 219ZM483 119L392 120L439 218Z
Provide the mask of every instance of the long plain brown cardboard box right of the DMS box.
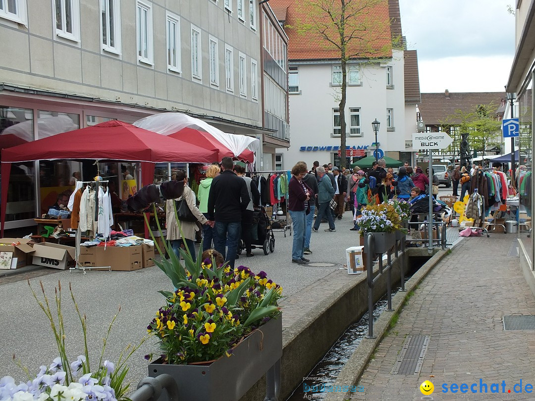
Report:
M142 245L135 246L80 246L80 266L108 267L113 271L130 272L143 266Z

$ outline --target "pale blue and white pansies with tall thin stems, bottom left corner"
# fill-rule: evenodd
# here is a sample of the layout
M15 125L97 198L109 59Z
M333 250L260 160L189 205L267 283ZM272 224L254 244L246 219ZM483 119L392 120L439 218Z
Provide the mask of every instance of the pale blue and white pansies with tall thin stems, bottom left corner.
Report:
M29 285L29 281L28 281ZM28 380L16 384L11 376L4 376L0 379L0 400L6 401L116 401L127 400L125 397L126 391L129 388L129 383L124 383L125 376L128 373L126 365L127 360L139 348L139 346L146 340L140 342L139 345L128 345L126 349L121 352L117 364L113 364L109 360L104 360L104 350L106 342L108 341L113 322L117 318L117 314L113 317L108 332L105 335L100 359L96 364L90 364L90 356L87 348L87 325L86 316L81 314L78 309L78 304L74 299L71 286L71 298L74 303L75 310L80 319L82 326L84 352L78 356L72 363L68 363L67 352L65 348L66 332L62 313L62 287L58 283L56 288L55 304L56 312L53 312L49 300L45 295L43 284L41 283L41 290L43 292L44 302L42 302L35 294L32 287L32 294L37 300L37 304L41 307L45 315L50 321L50 325L56 340L56 345L59 351L59 357L54 359L50 366L41 366L37 375L33 376L29 373L29 369L22 368ZM119 308L120 311L120 308ZM57 314L58 319L54 318ZM91 359L92 360L92 359ZM20 363L19 363L20 365Z

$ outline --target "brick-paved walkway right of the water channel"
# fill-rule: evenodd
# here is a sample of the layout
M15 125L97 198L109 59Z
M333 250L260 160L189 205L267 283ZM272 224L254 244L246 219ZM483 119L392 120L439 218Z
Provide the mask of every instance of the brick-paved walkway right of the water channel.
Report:
M525 392L528 383L535 388L535 331L505 331L502 325L503 315L535 314L518 258L508 256L515 253L511 245L512 234L466 238L435 266L380 343L358 382L365 391L354 398L422 399L419 385L430 380L435 400L535 400L535 389ZM407 335L430 336L421 373L393 375ZM479 391L480 381L486 394L449 391L452 383L467 383L468 391L476 383ZM515 394L521 381L522 393ZM498 394L491 393L492 383L499 384Z

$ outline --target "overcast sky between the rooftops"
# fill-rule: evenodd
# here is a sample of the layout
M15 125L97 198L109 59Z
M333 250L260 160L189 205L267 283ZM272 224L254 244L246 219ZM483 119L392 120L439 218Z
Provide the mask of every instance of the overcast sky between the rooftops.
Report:
M418 51L422 92L503 91L515 54L516 0L399 0L403 35Z

